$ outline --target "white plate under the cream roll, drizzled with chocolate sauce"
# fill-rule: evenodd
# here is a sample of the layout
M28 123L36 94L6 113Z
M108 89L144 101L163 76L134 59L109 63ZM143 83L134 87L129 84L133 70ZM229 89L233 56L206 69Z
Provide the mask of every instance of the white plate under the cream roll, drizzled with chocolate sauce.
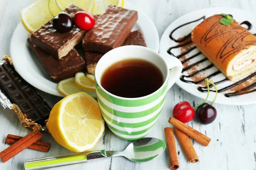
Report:
M250 32L252 32L253 34L256 33L256 17L253 13L250 13L248 11L243 11L241 9L235 9L235 8L205 8L205 9L201 9L198 11L193 11L190 12L188 14L183 15L182 17L179 17L177 20L175 20L173 23L170 24L170 26L168 28L166 28L166 30L164 31L161 40L160 40L160 54L162 55L169 55L167 53L167 50L170 47L173 47L175 45L177 45L177 42L174 42L173 40L171 40L169 38L169 34L178 26L181 26L185 23L191 22L193 20L197 20L203 16L206 17L210 17L213 14L231 14L233 15L233 18L238 22L241 23L243 21L249 21L252 24L252 28L250 30ZM197 26L202 20L195 22L195 23L191 23L189 25L183 26L182 28L177 29L174 34L173 37L177 40L180 37L184 37L185 35L189 34L189 32L192 31L192 29ZM180 49L176 48L175 50L172 51L172 53L174 54L180 54ZM192 56L195 53L198 53L198 49L193 50L191 53L189 53L189 56ZM169 55L169 57L172 57L171 55ZM204 56L201 54L197 57L195 57L192 61L196 62L198 60L203 59ZM209 61L205 61L202 63L200 68L205 68L206 66L209 65ZM210 70L210 72L209 72ZM217 71L217 69L215 67L209 69L208 72L206 73L206 75L209 75L215 71ZM183 72L183 75L188 75L186 73L186 71ZM212 77L211 80L213 82L217 82L218 80L224 79L224 75L223 74L218 74L215 77ZM186 78L189 80L189 78ZM195 96L198 96L202 99L205 99L207 96L207 93L202 93L200 91L197 90L198 86L202 86L202 85L195 85L192 83L186 83L186 82L182 82L180 79L176 82L177 85L179 85L181 88L183 88L183 90L189 92L190 94L193 94ZM227 85L231 85L233 84L233 82L227 81L224 83L221 83L219 85L217 85L218 89L221 89ZM214 90L214 88L211 88L211 90ZM208 100L212 102L212 100L214 99L215 94L213 92L210 93ZM248 104L253 104L256 103L256 92L250 93L250 94L243 94L240 96L235 96L235 97L225 97L223 93L219 93L216 99L217 103L220 104L225 104L225 105L248 105Z

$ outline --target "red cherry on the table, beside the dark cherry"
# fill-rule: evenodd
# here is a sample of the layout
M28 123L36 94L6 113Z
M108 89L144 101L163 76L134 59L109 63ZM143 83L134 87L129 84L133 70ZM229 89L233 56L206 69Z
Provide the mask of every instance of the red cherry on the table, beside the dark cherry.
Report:
M190 122L195 117L195 111L189 102L179 102L172 111L172 116L180 122Z

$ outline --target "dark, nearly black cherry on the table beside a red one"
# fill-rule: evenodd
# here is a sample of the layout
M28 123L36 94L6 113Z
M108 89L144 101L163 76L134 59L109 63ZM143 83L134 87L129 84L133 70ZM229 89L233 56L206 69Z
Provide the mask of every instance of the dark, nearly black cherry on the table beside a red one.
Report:
M204 103L196 109L196 114L200 122L204 125L207 125L215 120L217 111L212 105Z

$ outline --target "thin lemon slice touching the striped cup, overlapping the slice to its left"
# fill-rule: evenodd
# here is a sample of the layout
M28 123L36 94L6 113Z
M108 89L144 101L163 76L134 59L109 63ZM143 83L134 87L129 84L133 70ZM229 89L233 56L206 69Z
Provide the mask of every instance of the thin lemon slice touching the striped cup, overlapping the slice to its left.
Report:
M87 90L96 91L95 83L88 79L83 72L78 72L75 77L75 83L80 88L85 88Z

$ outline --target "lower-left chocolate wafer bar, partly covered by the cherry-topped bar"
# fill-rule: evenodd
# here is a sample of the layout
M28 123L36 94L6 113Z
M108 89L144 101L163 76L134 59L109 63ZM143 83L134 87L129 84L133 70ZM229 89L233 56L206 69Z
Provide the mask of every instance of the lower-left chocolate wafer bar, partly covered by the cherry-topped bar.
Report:
M29 38L28 43L54 82L73 77L77 72L85 70L84 59L75 49L71 50L66 57L57 60L36 47Z

